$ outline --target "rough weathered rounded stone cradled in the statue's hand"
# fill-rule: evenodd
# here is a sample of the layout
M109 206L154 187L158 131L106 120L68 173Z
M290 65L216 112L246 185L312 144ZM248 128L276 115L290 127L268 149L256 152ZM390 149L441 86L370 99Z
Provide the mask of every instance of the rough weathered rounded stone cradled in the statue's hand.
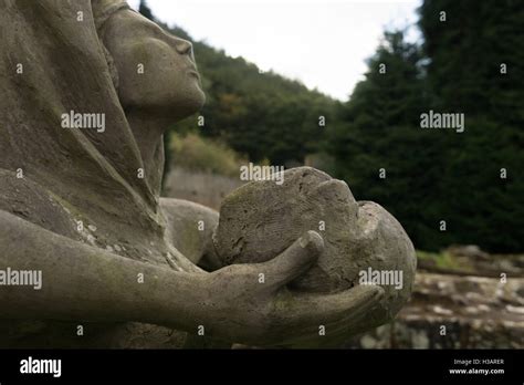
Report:
M290 287L337 292L379 284L386 295L366 322L390 321L415 279L415 249L400 223L377 204L357 202L345 183L314 168L292 168L279 179L249 183L223 200L213 235L223 263L271 260L301 233L316 230L324 252Z

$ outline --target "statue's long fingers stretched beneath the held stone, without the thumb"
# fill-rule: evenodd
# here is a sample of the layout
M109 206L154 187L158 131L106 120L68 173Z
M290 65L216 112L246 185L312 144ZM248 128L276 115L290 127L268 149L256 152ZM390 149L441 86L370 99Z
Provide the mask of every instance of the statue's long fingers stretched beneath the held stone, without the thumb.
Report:
M281 337L286 344L302 346L324 341L318 334L319 326L325 327L332 340L335 335L348 335L369 322L370 311L382 298L384 289L377 285L358 285L327 295L283 292L275 300L274 316L277 321L273 334L279 333L279 325L282 325L282 336L275 336L276 340Z

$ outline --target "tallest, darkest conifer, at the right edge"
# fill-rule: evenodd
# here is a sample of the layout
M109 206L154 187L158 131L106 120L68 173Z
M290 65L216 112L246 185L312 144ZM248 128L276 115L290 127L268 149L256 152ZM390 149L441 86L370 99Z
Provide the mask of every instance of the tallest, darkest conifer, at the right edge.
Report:
M465 114L465 132L448 136L442 148L439 209L453 241L522 251L524 3L426 0L420 15L434 106Z

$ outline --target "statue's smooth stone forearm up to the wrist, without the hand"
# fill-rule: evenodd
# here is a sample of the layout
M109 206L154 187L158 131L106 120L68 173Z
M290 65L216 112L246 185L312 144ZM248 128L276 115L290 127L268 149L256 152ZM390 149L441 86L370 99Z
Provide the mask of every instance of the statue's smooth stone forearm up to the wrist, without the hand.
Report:
M42 271L42 288L0 285L0 318L137 321L192 329L198 277L129 260L0 210L0 270ZM138 274L144 283L138 283ZM175 316L176 314L176 316Z

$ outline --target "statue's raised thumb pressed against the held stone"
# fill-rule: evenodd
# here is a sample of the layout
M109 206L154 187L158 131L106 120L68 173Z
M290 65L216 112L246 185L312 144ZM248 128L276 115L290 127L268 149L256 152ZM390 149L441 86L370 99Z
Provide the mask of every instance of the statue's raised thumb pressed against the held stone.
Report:
M307 231L285 251L271 261L261 263L265 268L265 280L275 288L306 272L324 250L324 240L315 231Z

